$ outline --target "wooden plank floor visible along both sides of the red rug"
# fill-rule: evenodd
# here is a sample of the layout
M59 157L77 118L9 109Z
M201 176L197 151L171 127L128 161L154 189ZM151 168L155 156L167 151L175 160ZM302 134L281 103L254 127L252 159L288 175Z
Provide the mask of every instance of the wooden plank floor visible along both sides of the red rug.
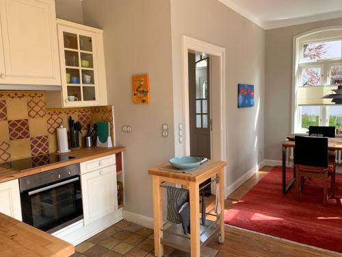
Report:
M257 184L270 171L272 167L265 166L256 175L240 186L228 196L225 209L228 210L239 201L250 189ZM219 249L216 257L313 257L313 256L342 256L342 254L330 254L304 245L289 243L277 238L263 236L236 228L226 227L226 239L222 245L217 241L211 241L208 246ZM339 242L341 243L341 242Z

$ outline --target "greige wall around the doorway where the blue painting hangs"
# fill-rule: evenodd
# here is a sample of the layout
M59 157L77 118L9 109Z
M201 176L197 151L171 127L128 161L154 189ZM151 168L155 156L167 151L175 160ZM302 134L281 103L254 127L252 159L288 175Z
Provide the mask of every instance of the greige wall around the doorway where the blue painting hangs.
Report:
M230 186L264 158L265 31L213 0L172 0L171 26L175 126L183 120L181 36L226 49L226 186ZM239 83L254 84L253 108L237 108ZM184 154L178 141L175 149L176 155Z

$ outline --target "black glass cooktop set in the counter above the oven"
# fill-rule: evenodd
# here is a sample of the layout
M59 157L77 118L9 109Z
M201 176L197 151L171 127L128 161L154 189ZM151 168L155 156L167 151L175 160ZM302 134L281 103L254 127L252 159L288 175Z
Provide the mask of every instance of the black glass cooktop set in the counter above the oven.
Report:
M75 157L72 156L59 156L57 154L43 154L41 156L34 156L31 158L25 158L21 160L13 160L12 162L5 162L1 164L2 167L12 169L14 171L25 171L36 167L53 164L56 162L62 162L64 160L70 160Z

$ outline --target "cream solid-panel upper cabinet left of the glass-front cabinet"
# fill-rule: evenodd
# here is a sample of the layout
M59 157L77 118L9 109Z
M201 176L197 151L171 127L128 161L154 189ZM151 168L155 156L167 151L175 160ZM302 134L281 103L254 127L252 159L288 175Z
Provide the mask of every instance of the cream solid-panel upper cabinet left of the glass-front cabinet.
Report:
M0 0L0 25L0 84L61 84L55 1Z

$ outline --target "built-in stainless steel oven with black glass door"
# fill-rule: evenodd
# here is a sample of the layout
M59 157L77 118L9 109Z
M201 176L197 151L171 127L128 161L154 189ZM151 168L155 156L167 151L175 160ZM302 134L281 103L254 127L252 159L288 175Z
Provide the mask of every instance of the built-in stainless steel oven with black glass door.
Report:
M53 233L83 219L79 164L19 179L23 221Z

